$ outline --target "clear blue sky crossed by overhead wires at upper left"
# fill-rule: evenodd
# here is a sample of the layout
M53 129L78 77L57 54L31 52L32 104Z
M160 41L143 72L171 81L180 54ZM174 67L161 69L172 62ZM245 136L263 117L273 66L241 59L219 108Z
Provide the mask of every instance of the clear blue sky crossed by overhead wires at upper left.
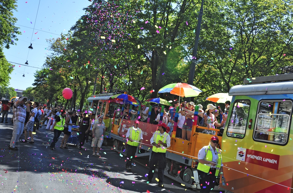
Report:
M36 16L39 0L18 0L18 8L17 11L14 11L14 17L18 19L16 26L20 28L22 35L18 36L17 45L11 45L9 49L4 48L4 55L8 61L23 65L27 58L29 66L32 67L23 65L19 67L12 63L15 67L10 75L9 87L25 90L32 86L34 72L38 70L34 67L41 68L46 55L49 54L45 49L48 49L46 39L58 38L62 32L66 34L80 16L84 15L82 9L90 4L91 2L87 0L41 0ZM35 29L33 30L34 24ZM30 42L33 50L28 48ZM23 74L25 77L22 77Z

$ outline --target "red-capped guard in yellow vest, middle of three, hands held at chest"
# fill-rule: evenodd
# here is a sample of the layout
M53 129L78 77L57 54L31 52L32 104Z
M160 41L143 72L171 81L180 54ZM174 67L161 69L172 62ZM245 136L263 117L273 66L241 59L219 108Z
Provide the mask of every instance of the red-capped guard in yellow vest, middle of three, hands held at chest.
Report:
M166 148L170 147L171 138L168 133L166 133L166 124L158 124L158 131L154 132L151 138L151 144L153 145L151 159L149 160L149 174L147 184L152 183L152 178L154 177L154 170L156 168L157 162L159 161L158 169L158 179L159 187L164 187L164 169L166 168Z

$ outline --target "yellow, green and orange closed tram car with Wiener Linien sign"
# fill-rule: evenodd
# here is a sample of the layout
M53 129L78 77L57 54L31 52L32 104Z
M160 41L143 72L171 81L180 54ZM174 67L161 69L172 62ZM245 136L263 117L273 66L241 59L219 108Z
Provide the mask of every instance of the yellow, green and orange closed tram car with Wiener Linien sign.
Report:
M233 96L222 136L227 192L292 191L293 74L244 79Z

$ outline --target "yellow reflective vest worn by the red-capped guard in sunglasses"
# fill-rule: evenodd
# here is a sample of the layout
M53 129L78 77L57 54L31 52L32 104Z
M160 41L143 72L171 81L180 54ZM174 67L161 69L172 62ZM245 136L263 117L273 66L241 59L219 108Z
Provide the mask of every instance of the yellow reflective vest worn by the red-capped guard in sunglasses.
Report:
M206 156L204 157L204 160L207 160L207 161L211 162L213 160L214 152L212 152L212 150L211 150L209 145L204 146L204 149L205 149L205 152L206 152ZM216 149L217 149L217 156L218 156L218 158L216 159L216 162L218 164L217 164L215 176L218 176L220 168L221 168L222 155L221 155L220 150L218 148L216 148ZM211 164L198 163L197 170L200 170L200 171L205 172L205 173L209 173L209 169L211 168L211 166L212 166Z

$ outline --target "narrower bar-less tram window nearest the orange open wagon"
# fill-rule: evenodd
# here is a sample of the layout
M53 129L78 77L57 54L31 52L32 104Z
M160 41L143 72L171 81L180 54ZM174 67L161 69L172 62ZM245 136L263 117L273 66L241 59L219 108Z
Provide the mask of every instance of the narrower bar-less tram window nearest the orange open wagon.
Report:
M235 138L244 138L247 119L249 115L250 101L236 100L233 106L230 106L230 120L227 128L227 136Z

